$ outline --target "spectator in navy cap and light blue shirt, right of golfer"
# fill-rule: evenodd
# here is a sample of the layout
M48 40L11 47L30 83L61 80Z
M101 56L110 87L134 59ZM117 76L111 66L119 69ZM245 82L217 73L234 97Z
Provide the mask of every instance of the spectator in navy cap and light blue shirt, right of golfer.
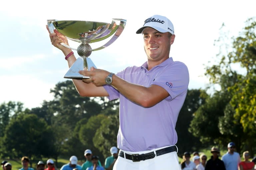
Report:
M238 164L241 162L239 153L235 152L235 143L228 143L228 151L222 156L226 170L238 170Z

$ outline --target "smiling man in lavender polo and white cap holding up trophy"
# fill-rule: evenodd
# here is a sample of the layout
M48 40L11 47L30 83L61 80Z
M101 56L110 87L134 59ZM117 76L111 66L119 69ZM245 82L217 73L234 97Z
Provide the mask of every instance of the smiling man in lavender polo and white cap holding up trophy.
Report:
M91 67L79 71L87 78L72 80L81 96L120 99L120 151L114 170L180 169L175 126L187 94L188 69L169 57L175 35L168 18L149 17L136 34L144 39L144 64L116 74ZM61 45L68 45L66 37L55 31L50 39L71 67L76 57L70 48Z

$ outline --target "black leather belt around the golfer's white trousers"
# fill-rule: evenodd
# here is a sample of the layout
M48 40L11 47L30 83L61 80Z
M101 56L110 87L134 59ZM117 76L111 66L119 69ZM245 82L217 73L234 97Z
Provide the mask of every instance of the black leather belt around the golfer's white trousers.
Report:
M170 152L174 152L174 151L177 152L176 146L170 146L170 147L166 147L166 148L163 148L163 149L156 150L156 154L154 152L143 153L143 154L131 154L131 155L125 153L125 158L129 159L129 160L132 160L133 162L139 162L139 161L144 161L144 160L147 160L147 159L152 159L155 156L160 156L160 155L170 153ZM119 156L124 158L124 152L120 151Z

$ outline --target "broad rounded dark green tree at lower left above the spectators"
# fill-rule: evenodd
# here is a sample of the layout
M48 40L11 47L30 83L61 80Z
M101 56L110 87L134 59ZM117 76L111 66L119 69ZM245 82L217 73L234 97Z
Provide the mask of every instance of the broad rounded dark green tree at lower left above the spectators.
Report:
M51 136L51 129L43 119L33 114L19 114L5 128L2 139L4 150L9 152L11 158L26 155L33 160L49 156Z

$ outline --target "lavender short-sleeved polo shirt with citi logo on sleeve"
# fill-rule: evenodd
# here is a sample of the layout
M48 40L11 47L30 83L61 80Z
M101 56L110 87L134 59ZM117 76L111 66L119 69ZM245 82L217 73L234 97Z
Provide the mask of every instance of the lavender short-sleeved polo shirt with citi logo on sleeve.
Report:
M146 151L177 143L175 126L187 94L187 66L170 57L149 71L146 68L147 62L141 67L127 67L116 75L145 87L154 84L164 88L170 96L155 106L144 108L112 86L104 86L109 100L120 99L117 146L125 151Z

